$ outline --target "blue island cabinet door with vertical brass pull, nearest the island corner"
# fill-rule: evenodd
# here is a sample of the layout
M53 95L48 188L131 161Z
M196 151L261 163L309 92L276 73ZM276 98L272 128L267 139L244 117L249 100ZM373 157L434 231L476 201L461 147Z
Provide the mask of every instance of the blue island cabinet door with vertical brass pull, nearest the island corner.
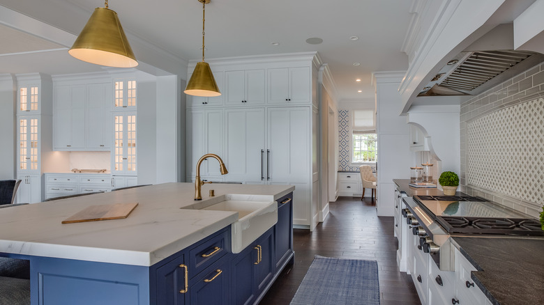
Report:
M184 257L183 254L176 256L176 258L157 269L157 305L186 304L189 282L188 266Z

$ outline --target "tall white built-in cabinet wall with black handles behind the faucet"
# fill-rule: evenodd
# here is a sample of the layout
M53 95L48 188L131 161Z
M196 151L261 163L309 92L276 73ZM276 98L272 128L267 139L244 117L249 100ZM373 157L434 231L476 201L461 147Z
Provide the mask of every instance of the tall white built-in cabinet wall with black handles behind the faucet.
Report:
M220 97L188 96L187 180L202 155L203 180L294 185L294 226L317 225L317 57L315 52L208 60ZM192 71L196 62L189 65ZM189 75L190 77L190 75ZM312 157L313 156L313 157ZM204 187L213 189L213 186ZM203 191L204 194L205 191Z

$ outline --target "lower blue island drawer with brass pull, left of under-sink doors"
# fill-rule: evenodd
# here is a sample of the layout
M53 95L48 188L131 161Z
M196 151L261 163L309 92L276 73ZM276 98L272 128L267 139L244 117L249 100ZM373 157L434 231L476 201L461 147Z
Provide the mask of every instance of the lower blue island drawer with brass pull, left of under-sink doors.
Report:
M190 280L189 298L192 305L230 304L230 256L223 256Z

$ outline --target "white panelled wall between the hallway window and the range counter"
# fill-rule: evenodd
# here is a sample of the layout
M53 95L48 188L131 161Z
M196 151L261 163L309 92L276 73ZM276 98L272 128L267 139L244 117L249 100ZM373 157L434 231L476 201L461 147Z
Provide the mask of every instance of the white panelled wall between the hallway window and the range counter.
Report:
M409 126L399 116L402 106L398 87L403 72L375 72L378 166L378 216L393 216L393 179L409 178L412 153L409 150Z

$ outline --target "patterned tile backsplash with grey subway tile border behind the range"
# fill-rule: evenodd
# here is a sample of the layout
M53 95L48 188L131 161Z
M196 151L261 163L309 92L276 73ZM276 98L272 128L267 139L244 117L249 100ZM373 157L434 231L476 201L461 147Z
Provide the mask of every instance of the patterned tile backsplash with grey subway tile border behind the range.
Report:
M544 198L544 64L464 102L462 190L538 217Z

